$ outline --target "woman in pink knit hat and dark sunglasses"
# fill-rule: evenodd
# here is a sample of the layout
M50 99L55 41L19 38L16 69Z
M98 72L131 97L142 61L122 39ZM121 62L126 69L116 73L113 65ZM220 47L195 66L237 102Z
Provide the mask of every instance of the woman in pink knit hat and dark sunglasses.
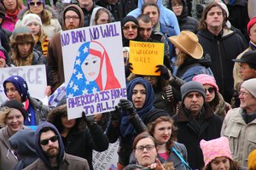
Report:
M221 94L218 93L218 85L214 77L207 74L200 74L193 77L194 82L201 82L206 89L206 103L211 106L212 111L224 119L226 110L231 109L230 104L226 103Z

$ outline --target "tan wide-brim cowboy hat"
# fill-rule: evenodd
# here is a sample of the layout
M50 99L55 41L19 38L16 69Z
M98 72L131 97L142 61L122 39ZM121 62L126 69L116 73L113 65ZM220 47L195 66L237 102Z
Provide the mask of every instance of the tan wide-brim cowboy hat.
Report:
M169 40L185 54L189 54L194 59L201 59L203 48L198 42L198 37L193 32L181 31L178 36L169 37Z

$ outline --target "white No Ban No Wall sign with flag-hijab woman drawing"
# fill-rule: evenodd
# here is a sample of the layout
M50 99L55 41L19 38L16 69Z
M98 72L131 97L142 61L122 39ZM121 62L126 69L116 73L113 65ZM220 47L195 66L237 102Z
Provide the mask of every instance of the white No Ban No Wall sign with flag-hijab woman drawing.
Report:
M113 111L126 98L119 22L61 31L67 117Z

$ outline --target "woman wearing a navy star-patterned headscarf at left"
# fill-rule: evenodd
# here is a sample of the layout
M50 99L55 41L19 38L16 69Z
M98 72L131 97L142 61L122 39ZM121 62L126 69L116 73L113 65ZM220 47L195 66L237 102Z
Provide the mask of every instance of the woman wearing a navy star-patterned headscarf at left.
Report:
M3 82L4 93L8 99L15 99L24 104L28 116L24 120L26 126L35 126L46 121L49 107L42 101L32 98L28 93L26 81L20 76L12 76ZM4 103L3 103L4 105Z

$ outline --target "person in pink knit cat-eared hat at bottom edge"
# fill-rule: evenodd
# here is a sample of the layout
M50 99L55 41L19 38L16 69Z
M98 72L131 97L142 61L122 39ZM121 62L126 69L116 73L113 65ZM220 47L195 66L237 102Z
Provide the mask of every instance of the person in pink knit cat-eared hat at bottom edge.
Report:
M229 139L220 137L206 141L204 139L200 142L201 150L204 156L205 167L203 170L243 170L246 167L240 167L236 161L233 160Z

